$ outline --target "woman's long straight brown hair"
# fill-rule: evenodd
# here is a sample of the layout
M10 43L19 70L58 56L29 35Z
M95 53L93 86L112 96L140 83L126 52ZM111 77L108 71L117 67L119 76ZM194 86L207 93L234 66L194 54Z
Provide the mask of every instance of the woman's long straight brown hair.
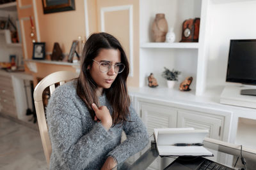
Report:
M92 67L93 59L99 55L102 49L119 50L121 62L125 65L124 71L118 73L115 81L109 89L104 89L106 98L113 108L113 124L120 124L127 121L129 115L130 99L127 92L126 80L129 74L129 63L125 52L119 41L106 32L92 34L86 41L81 56L81 72L77 81L77 95L84 101L90 115L94 119L95 113L92 109L92 103L99 104L96 95L97 84L92 79L88 66Z

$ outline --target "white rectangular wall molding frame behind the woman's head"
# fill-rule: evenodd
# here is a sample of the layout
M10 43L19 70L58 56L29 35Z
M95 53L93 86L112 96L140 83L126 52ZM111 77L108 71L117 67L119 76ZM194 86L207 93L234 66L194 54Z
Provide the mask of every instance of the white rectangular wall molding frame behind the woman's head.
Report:
M84 0L86 1L86 0ZM123 11L129 10L129 52L130 52L130 73L129 76L133 76L133 6L124 5L124 6L109 6L100 8L100 31L105 31L105 18L104 15L106 12L110 11Z

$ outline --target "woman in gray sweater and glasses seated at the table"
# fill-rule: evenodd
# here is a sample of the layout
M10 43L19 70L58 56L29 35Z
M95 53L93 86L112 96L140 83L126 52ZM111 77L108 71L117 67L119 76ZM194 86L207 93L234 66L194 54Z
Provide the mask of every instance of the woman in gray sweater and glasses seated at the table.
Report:
M58 87L47 106L50 169L112 169L147 145L145 126L130 106L128 74L118 40L92 34L79 77ZM127 139L121 143L123 130Z

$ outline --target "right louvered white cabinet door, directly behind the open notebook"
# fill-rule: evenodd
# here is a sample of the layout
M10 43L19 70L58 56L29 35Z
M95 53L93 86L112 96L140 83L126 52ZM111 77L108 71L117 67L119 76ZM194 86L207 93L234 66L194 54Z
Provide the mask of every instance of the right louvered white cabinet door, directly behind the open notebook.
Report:
M177 127L194 127L209 129L207 137L221 139L221 123L223 117L213 117L212 114L196 111L179 110Z

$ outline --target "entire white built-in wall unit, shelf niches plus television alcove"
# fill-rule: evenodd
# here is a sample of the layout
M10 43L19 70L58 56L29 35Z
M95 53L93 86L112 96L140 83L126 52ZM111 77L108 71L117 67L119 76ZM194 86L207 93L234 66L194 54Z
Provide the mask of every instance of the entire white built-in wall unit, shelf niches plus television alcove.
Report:
M212 108L232 112L229 141L256 148L255 138L250 138L256 127L256 110L220 104L220 95L226 85L227 61L230 39L255 39L255 0L141 0L140 4L140 88L145 94L164 97L195 97L205 106L210 101ZM164 13L168 27L173 27L174 43L153 43L152 23L156 13ZM200 18L198 43L179 43L182 22ZM232 29L230 29L232 28ZM163 67L182 72L174 90L166 86L161 76ZM147 76L154 73L159 87L148 89ZM193 76L191 92L179 92L179 83ZM234 83L232 84L234 85ZM239 86L237 84L237 86ZM147 90L145 90L147 89ZM161 90L161 92L159 91ZM170 94L169 94L170 92ZM143 94L143 96L145 95ZM195 99L191 98L191 101ZM209 100L208 100L209 99ZM188 104L189 105L189 104ZM248 134L246 134L248 132ZM251 141L250 141L251 139Z

